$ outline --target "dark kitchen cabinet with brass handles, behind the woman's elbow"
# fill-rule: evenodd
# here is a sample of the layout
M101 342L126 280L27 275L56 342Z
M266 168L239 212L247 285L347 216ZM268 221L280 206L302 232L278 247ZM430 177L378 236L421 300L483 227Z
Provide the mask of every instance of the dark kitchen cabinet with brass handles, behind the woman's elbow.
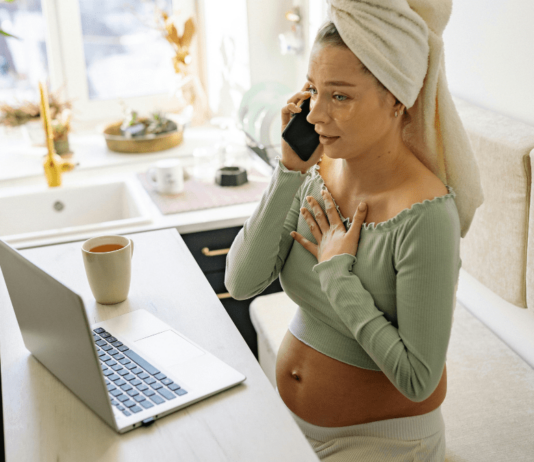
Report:
M182 239L197 261L230 318L258 359L258 339L250 320L249 305L255 297L236 300L224 286L226 255L242 226L182 234ZM282 292L278 278L259 295ZM256 295L257 297L258 295Z

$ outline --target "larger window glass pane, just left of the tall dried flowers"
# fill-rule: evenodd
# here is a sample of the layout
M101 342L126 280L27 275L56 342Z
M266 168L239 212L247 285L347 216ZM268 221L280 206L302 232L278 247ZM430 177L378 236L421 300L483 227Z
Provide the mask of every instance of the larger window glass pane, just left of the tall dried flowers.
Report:
M79 4L89 100L171 91L173 52L161 32L151 27L155 2L79 0ZM172 10L171 0L159 6Z

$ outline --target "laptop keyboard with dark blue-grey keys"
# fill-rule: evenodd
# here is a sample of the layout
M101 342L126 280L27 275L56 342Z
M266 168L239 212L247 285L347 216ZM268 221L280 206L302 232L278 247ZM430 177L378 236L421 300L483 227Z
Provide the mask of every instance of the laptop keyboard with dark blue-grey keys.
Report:
M93 338L111 404L125 416L187 393L102 327L93 330Z

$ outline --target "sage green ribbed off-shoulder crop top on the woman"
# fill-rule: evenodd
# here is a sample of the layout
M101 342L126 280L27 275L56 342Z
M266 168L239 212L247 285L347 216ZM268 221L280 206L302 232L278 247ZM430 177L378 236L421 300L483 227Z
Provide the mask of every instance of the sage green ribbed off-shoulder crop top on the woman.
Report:
M404 396L424 401L445 366L462 264L456 194L446 186L444 196L382 223L364 223L356 256L317 263L289 233L317 244L300 208L311 212L306 196L313 196L325 210L318 168L288 170L278 158L228 252L226 288L245 300L280 276L298 305L289 325L296 338L338 361L381 370ZM340 216L349 229L349 219Z

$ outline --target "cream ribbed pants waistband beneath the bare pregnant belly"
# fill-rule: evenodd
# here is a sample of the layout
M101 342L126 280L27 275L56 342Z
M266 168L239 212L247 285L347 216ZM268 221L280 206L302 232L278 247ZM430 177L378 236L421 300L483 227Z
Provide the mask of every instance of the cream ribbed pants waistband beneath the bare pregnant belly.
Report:
M278 387L276 388L278 393ZM280 393L278 393L280 395ZM283 400L282 400L283 402ZM287 410L293 416L302 432L314 440L326 442L333 438L345 436L374 436L398 440L419 440L444 431L445 421L441 413L441 405L433 411L417 416L399 417L396 419L378 420L358 425L344 427L321 427L313 425L300 418L291 409Z

